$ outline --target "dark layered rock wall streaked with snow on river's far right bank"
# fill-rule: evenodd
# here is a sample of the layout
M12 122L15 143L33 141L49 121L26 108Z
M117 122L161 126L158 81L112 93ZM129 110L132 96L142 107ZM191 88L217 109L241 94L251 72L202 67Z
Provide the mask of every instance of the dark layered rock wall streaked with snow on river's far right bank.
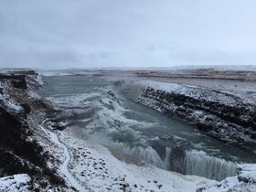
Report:
M210 91L198 93L199 97L193 97L175 91L147 88L137 101L167 116L194 124L203 133L228 144L255 150L256 106L244 103L231 95L224 95L232 99L233 103L229 104L205 99L211 94Z

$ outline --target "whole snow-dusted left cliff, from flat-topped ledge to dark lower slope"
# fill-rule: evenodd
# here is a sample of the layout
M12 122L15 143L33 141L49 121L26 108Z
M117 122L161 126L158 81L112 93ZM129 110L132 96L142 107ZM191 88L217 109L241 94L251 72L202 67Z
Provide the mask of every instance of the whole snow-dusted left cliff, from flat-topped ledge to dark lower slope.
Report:
M37 128L27 119L42 110L50 112L44 101L29 94L37 86L36 73L0 75L0 177L27 176L22 186L31 191L63 188L64 180L48 165L52 157L38 142Z

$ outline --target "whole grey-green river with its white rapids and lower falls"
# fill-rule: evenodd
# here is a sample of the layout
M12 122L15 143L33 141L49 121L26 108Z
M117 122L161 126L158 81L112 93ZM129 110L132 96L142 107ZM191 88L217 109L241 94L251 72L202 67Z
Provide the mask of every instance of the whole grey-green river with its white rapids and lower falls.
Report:
M126 93L133 94L129 86L123 91L93 76L44 80L46 86L39 93L65 110L66 131L80 139L114 147L164 169L218 180L236 175L237 163L255 163L255 154L128 99Z

